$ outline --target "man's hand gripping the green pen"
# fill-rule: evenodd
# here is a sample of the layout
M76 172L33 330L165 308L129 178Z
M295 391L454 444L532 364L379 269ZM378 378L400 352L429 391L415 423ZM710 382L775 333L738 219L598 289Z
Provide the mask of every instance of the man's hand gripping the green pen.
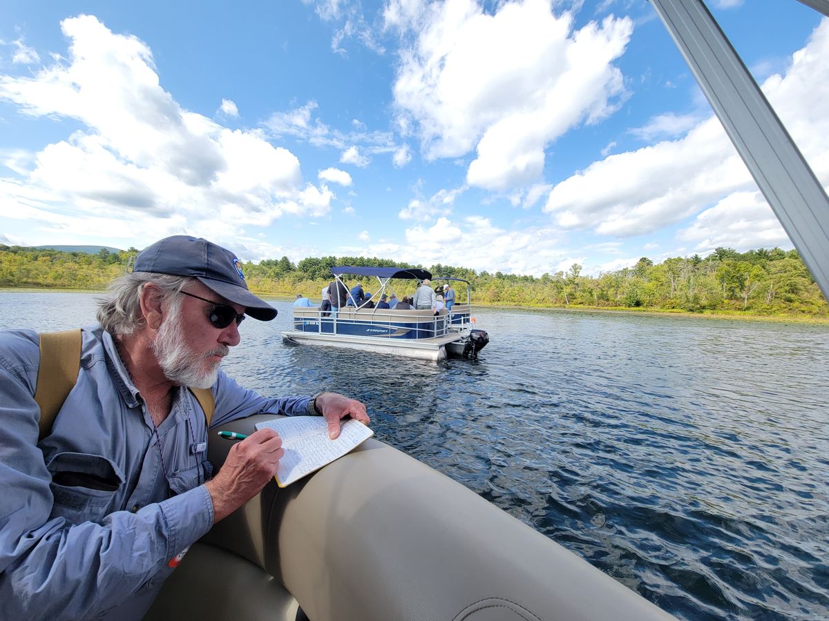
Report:
M283 455L282 438L272 429L260 429L231 446L219 474L205 484L213 501L213 521L229 516L259 493L276 474Z

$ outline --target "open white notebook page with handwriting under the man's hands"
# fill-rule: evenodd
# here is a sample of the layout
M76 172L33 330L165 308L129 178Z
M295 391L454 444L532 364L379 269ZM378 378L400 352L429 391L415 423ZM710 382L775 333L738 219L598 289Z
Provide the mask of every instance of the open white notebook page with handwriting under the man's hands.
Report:
M340 436L331 440L322 416L274 418L256 423L256 429L273 429L282 438L285 455L276 471L280 488L330 464L374 436L374 431L361 422L348 419L342 422Z

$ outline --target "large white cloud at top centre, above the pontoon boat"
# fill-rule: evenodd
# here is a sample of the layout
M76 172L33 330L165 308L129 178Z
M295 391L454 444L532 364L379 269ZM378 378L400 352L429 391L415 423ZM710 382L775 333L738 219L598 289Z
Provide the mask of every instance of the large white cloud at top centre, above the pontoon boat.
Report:
M427 159L477 149L469 185L507 190L541 178L545 147L579 123L613 113L626 95L612 65L633 22L607 17L574 30L545 0L473 0L415 7L393 2L386 24L417 36L402 51L395 104L414 124Z

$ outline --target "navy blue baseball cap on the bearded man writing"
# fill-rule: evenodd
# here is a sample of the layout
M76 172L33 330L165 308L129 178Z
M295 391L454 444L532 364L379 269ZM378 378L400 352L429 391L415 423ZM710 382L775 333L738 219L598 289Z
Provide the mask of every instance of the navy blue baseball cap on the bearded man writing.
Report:
M173 235L144 248L133 272L191 276L225 300L245 306L245 315L270 321L276 309L248 291L240 261L230 250L190 235Z

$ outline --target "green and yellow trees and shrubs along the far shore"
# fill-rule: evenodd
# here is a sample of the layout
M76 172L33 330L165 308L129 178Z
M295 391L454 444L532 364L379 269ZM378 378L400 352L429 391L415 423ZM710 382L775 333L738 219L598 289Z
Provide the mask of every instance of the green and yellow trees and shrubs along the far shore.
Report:
M0 244L0 288L104 291L137 253L135 248L87 254ZM305 258L294 264L283 257L247 262L242 270L250 290L259 295L303 293L318 304L322 287L332 280L331 267L337 265L423 267L363 257ZM795 250L738 253L717 248L705 258L668 258L658 264L642 257L633 267L596 277L582 276L577 263L541 277L444 265L427 269L434 286L438 277L468 280L475 306L829 323L829 305ZM366 291L376 287L363 281ZM356 283L356 277L348 282ZM414 293L414 282L402 284L395 290L398 296ZM458 301L465 301L466 286L455 284Z

